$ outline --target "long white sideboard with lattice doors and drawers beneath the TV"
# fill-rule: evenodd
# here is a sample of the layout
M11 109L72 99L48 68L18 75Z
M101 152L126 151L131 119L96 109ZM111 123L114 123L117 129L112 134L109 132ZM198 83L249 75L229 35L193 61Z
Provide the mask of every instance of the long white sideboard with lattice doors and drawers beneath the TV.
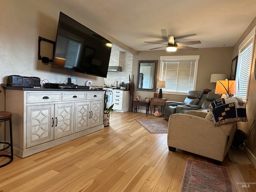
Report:
M103 100L102 90L6 88L14 154L23 158L103 129Z

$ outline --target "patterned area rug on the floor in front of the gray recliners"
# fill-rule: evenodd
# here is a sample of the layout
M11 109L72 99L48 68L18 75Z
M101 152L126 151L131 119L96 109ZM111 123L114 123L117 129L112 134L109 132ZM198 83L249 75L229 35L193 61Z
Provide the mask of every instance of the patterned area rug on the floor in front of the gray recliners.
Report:
M165 119L135 119L150 133L167 133L168 121Z

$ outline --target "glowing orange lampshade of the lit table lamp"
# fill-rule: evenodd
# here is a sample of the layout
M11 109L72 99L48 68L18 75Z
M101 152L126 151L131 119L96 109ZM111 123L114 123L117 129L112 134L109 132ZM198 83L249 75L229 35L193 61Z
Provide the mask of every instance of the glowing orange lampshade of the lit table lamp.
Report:
M236 94L236 81L234 80L224 80L224 81L217 81L216 94L228 94L229 97Z

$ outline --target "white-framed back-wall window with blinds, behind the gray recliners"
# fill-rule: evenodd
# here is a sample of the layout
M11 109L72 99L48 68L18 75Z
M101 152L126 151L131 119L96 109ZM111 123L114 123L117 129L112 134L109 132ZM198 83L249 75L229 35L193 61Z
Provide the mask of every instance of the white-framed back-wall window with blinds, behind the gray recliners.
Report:
M162 58L162 59L161 59ZM199 56L163 56L160 77L166 93L185 93L195 90Z

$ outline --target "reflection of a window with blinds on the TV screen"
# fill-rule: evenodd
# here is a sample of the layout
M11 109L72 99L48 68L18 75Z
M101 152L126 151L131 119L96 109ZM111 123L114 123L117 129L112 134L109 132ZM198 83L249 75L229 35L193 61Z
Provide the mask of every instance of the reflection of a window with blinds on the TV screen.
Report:
M57 41L55 57L66 59L65 67L72 69L77 65L80 42L62 36L58 36Z

